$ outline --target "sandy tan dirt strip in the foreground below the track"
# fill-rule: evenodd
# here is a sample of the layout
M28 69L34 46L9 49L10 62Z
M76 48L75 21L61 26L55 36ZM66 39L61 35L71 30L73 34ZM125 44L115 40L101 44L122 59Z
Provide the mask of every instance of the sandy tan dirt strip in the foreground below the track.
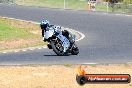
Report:
M3 66L0 88L132 88L130 84L85 84L75 80L77 65ZM88 74L130 74L132 65L87 65Z

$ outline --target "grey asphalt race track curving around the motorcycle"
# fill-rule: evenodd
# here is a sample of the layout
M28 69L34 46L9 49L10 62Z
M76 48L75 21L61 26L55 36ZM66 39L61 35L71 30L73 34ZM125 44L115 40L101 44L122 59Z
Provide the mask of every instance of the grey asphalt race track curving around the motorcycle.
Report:
M0 16L69 27L85 35L77 42L77 56L56 56L47 48L0 53L1 65L12 64L86 64L132 62L132 16L100 12L72 11L0 4Z

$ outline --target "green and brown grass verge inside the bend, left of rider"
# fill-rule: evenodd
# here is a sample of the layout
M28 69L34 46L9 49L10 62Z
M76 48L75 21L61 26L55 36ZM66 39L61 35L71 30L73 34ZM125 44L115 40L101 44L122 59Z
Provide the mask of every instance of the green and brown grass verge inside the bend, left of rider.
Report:
M0 51L44 44L39 25L0 17Z

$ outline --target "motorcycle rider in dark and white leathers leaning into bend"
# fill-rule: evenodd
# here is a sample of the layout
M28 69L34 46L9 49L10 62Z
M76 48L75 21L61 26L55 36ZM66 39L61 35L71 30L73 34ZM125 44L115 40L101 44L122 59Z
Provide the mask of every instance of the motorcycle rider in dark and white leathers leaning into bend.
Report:
M44 37L44 32L46 30L48 30L50 27L52 27L52 26L54 26L54 25L50 25L48 20L42 20L41 21L40 27L42 29L42 37L43 37L43 41L44 42L47 41L47 39L45 39L45 37ZM69 31L67 31L67 30L61 30L60 26L55 26L54 28L55 28L56 31L57 30L62 31L62 35L65 36L70 41L70 45L72 45L74 43L73 40L72 40L73 39L72 35L70 34Z

